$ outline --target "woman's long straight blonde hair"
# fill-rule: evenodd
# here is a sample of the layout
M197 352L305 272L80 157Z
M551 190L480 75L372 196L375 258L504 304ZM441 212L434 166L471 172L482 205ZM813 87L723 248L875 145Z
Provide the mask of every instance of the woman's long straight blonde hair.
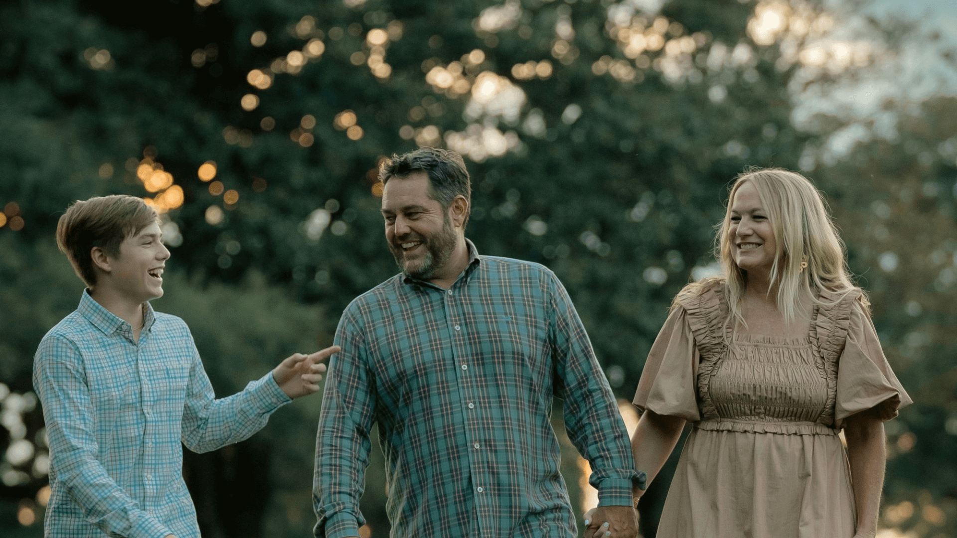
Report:
M729 318L746 325L742 314L746 272L734 261L730 225L734 196L747 182L758 191L777 243L770 286L777 285L777 306L785 323L795 321L799 298L811 298L813 303L820 304L825 303L819 298L821 290L837 294L838 301L853 291L855 285L847 267L844 242L837 233L821 192L799 173L783 168L750 168L735 178L724 219L715 237L715 257L721 263ZM803 271L802 261L808 264ZM714 280L701 280L686 286L676 301L700 294Z

